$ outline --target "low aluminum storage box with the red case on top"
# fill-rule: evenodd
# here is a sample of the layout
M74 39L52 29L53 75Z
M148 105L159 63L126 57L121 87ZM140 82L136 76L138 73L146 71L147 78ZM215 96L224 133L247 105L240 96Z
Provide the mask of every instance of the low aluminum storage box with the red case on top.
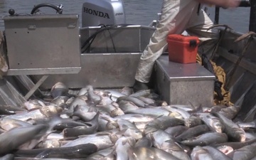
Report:
M215 75L198 63L174 63L168 55L156 60L156 90L169 105L213 106Z

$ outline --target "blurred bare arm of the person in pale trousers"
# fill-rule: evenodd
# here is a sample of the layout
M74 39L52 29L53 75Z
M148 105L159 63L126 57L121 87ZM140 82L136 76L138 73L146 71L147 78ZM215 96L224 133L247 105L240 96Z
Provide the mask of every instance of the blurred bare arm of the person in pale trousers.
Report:
M215 6L222 6L225 8L237 7L240 4L239 0L196 0L202 4L211 4Z

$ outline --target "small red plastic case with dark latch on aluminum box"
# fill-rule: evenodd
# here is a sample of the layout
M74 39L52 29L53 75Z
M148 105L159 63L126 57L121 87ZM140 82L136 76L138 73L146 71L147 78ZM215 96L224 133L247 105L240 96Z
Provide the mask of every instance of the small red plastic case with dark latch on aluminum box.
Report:
M170 34L167 37L167 43L170 61L176 63L196 63L198 37Z

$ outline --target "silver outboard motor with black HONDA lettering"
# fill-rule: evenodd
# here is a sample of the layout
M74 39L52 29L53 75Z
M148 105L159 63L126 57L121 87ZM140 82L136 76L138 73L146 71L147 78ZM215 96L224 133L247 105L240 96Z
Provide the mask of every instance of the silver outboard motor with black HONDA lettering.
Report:
M124 23L122 0L86 0L82 5L82 27Z

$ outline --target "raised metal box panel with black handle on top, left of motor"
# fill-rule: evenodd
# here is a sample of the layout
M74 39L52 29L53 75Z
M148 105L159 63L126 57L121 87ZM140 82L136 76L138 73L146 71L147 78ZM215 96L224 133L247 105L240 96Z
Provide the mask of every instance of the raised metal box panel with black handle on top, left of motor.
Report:
M4 18L8 75L78 73L78 15L26 15Z

